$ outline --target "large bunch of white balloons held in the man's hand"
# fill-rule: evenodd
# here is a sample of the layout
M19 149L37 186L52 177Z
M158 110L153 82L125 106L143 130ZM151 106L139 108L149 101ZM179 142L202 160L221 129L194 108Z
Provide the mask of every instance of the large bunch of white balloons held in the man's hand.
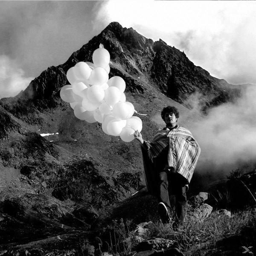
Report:
M67 71L70 84L61 88L60 96L70 103L78 119L100 122L105 134L130 142L134 131L142 130L142 121L133 116L134 106L126 101L124 79L108 79L109 62L110 54L101 44L93 52L93 63L81 61Z

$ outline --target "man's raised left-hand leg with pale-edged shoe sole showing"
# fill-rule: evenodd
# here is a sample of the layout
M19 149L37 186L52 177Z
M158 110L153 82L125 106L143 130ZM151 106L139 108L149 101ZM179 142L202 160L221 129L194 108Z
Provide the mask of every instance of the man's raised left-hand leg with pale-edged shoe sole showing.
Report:
M169 213L171 210L171 205L169 201L168 192L168 177L166 172L159 172L159 183L158 183L158 212L160 214L163 224L169 223Z

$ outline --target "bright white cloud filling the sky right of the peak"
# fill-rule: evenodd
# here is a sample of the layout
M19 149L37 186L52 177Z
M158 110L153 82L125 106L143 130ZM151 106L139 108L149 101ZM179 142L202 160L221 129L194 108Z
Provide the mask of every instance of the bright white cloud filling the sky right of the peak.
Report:
M254 1L109 1L98 13L181 51L212 76L256 83Z

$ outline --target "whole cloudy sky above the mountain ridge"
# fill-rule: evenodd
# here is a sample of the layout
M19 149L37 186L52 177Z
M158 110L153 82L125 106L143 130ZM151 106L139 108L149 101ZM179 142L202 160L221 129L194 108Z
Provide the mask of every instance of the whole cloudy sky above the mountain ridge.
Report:
M64 63L112 21L161 38L231 84L256 84L255 1L0 1L0 98Z

